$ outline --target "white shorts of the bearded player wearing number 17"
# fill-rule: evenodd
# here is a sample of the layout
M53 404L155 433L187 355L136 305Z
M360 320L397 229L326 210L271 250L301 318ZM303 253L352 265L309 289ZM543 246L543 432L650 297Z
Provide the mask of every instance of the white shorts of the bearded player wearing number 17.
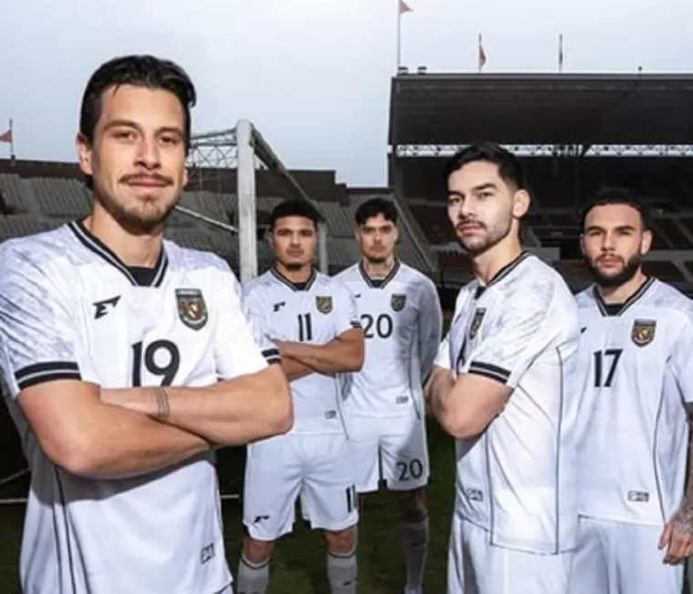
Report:
M581 517L570 594L681 594L684 566L662 563L662 530Z

